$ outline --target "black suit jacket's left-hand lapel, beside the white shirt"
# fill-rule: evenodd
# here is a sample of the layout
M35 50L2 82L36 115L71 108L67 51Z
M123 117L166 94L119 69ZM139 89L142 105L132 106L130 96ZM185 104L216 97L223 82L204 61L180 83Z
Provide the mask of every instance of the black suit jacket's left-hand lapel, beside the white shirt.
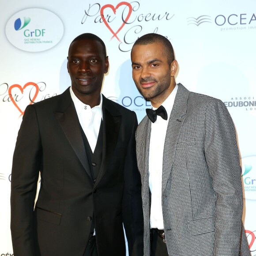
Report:
M60 103L60 110L54 111L54 114L65 136L75 151L75 154L82 163L83 168L91 177L90 166L86 157L79 119L75 112L75 106L73 105L69 88L63 93L63 101Z

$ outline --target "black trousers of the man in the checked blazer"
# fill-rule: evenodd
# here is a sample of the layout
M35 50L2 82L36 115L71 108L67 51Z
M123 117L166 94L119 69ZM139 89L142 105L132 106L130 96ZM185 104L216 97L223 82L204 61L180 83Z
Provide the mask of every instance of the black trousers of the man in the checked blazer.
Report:
M168 256L166 243L157 233L157 229L151 229L151 256Z

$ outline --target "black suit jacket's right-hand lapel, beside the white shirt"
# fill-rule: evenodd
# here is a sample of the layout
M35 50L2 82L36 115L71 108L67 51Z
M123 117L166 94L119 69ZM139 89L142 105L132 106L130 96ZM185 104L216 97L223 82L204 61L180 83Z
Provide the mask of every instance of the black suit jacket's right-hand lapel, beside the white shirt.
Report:
M121 124L120 112L113 106L112 102L102 95L102 112L103 112L103 150L102 164L98 174L96 186L105 174L109 159L112 157Z

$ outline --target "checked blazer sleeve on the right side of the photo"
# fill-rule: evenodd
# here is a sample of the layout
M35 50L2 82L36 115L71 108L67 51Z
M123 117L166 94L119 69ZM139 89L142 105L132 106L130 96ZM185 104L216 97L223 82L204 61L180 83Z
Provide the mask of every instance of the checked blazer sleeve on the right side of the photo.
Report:
M215 191L214 256L240 255L243 193L233 121L214 99L205 113L205 158Z

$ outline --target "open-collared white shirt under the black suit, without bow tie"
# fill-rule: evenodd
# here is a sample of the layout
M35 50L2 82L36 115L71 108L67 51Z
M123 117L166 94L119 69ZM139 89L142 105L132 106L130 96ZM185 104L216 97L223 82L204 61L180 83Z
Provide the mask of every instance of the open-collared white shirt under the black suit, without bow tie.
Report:
M102 94L100 104L92 109L75 96L72 87L70 87L70 94L83 132L87 137L92 152L94 152L102 121Z

